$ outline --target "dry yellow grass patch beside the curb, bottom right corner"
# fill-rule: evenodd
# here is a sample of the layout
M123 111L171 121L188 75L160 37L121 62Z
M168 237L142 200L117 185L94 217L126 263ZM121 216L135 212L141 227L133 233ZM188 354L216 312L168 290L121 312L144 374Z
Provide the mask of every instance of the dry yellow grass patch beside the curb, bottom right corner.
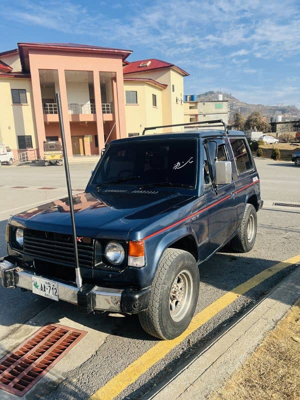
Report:
M209 400L299 400L300 300Z

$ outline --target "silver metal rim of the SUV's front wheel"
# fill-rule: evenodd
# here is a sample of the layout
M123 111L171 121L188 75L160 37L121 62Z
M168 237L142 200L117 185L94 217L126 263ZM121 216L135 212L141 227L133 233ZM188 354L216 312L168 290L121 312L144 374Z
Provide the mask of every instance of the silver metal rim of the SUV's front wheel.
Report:
M192 298L193 280L188 270L175 277L169 295L169 312L173 321L179 322L186 315Z

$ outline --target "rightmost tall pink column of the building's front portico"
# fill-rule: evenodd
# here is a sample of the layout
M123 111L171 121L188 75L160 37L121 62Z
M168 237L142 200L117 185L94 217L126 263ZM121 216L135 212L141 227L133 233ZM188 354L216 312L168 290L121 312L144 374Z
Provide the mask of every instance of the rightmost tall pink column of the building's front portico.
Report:
M116 121L116 137L127 137L124 102L124 81L122 70L116 72L115 86L116 87L113 86L113 100Z

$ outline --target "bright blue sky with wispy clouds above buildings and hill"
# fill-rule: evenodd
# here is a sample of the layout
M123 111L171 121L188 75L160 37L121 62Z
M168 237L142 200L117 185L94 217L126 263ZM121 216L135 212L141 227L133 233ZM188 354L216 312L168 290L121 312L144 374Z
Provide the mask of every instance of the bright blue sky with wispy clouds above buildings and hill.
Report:
M132 49L190 73L184 92L300 107L299 0L0 2L0 51L18 41Z

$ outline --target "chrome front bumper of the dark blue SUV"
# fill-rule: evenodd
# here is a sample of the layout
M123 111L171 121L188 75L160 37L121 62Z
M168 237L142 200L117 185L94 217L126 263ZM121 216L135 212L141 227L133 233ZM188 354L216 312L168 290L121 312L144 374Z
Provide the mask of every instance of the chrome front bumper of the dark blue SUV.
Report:
M32 276L36 276L33 272L24 270L21 267L0 259L0 278L2 286L13 288L22 287L23 289L32 291ZM43 276L40 276L43 277ZM75 286L68 285L49 278L57 283L58 299L67 301L68 303L78 304L78 289ZM94 286L91 290L91 306L93 310L105 310L118 312L121 310L122 289L111 289L106 287Z

